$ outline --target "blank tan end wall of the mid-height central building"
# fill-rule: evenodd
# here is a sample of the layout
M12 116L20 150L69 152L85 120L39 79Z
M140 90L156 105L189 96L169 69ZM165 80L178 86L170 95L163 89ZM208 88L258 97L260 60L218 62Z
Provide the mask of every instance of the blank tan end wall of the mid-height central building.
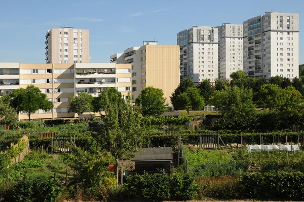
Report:
M167 103L179 84L179 46L175 45L145 45L146 49L146 83L141 85L163 89Z

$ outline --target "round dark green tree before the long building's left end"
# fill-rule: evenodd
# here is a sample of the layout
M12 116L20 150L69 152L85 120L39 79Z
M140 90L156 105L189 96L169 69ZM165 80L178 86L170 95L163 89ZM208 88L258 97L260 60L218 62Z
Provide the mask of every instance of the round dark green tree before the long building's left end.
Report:
M37 110L49 111L54 107L54 104L47 100L47 95L34 85L29 85L26 89L16 89L10 96L12 97L11 106L18 113L25 112L29 121L30 115Z

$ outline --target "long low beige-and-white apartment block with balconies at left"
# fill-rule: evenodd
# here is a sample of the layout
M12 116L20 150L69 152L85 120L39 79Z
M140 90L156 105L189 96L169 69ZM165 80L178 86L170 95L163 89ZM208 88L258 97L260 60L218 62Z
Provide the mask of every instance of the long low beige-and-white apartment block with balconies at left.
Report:
M106 87L115 87L128 99L132 95L131 68L131 64L116 63L0 63L0 95L34 85L47 94L54 108L38 110L31 119L77 117L67 112L70 98L79 92L98 96ZM21 120L27 118L27 114L20 114Z

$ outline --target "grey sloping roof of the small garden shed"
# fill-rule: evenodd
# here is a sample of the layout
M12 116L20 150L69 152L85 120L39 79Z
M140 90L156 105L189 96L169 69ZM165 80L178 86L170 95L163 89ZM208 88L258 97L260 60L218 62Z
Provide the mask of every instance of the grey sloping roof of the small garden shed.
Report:
M141 148L132 161L172 161L172 147Z

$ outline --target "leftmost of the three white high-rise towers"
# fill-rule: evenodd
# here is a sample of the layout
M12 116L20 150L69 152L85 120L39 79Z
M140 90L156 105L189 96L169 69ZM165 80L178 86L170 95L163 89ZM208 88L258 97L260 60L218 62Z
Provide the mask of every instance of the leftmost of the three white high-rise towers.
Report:
M195 84L218 78L218 29L194 26L177 33L180 49L180 80L192 78Z

